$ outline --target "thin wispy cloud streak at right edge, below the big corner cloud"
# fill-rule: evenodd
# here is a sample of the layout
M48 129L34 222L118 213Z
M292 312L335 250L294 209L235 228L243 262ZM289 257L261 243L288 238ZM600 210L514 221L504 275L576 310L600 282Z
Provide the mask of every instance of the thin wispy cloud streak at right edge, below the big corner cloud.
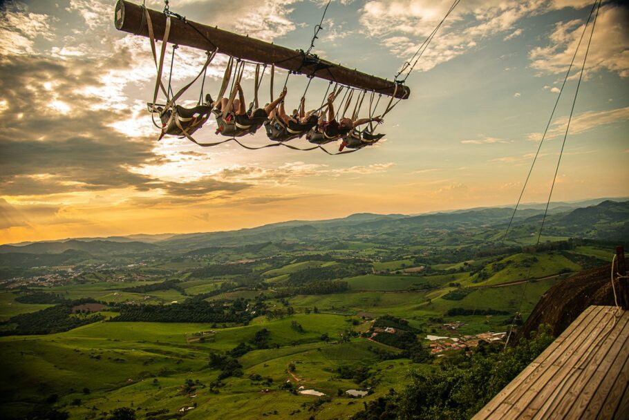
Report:
M570 122L569 135L583 133L597 126L613 124L615 122L624 122L629 120L629 106L625 108L610 109L608 111L587 111L572 117ZM563 137L567 117L558 118L548 130L547 139L555 137ZM542 133L530 133L528 140L538 142L542 139Z

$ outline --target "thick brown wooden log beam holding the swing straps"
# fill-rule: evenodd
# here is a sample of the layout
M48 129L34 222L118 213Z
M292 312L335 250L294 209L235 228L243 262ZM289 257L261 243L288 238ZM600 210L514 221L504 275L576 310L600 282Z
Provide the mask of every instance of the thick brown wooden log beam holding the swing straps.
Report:
M116 29L148 37L149 30L143 13L142 6L125 0L118 0L118 3L115 5L114 15ZM161 40L166 27L166 15L163 12L151 9L149 9L149 14L153 22L155 37ZM320 79L338 82L339 84L359 89L374 90L376 93L382 93L383 95L392 96L395 91L395 82L390 80L352 70L323 59L318 59L317 61L307 60L305 63L305 56L297 50L290 50L289 48L270 44L259 39L237 35L227 30L203 25L202 23L193 21L189 21L189 23L175 17L171 18L171 30L168 41L172 44L185 45L200 50L214 50L216 46L218 47L218 53L247 61L275 64L276 67L284 68L285 70L313 75ZM208 39L214 45L210 44ZM310 59L314 58L314 56L306 58ZM406 99L410 95L411 90L403 85L400 85L397 88L397 92L395 92L395 97L402 99Z

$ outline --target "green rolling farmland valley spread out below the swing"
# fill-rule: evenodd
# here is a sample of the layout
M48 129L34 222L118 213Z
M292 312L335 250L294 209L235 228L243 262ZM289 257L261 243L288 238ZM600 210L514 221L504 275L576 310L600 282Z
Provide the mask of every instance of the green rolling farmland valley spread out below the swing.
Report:
M509 212L480 213L175 237L68 266L29 267L5 247L3 418L108 419L122 407L139 419L347 418L457 354L431 356L427 334L505 332L552 285L612 255L611 239L562 225L569 214L531 246L527 219L487 242Z

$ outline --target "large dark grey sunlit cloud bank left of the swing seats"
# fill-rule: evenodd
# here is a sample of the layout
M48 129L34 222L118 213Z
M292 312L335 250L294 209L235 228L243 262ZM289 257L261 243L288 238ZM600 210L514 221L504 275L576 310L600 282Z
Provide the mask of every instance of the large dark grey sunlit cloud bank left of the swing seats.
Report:
M0 131L3 195L131 188L191 197L236 193L247 187L208 178L178 183L140 173L143 166L165 164L169 158L153 151L153 135L129 135L116 126L129 111L91 111L100 98L84 92L89 86L102 86L94 71L100 61L16 56L1 64L0 86L6 101ZM48 108L49 104L57 105ZM187 158L195 158L194 153Z

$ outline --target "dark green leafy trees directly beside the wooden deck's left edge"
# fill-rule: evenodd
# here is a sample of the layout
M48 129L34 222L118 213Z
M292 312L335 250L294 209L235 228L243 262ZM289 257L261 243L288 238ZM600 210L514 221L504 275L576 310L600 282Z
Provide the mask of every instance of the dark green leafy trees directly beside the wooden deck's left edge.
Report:
M409 386L366 404L353 420L463 420L473 417L550 343L541 327L530 340L501 352L482 345L471 356L449 358L440 370L411 372Z

